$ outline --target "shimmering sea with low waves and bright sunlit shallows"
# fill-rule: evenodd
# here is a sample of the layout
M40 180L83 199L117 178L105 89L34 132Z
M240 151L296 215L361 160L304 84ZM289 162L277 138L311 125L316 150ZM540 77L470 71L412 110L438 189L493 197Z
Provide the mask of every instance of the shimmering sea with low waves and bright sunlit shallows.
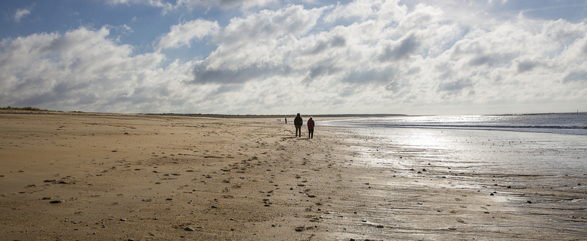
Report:
M347 140L367 165L539 175L536 182L565 179L587 187L587 112L391 116L316 125L318 137L321 126L345 129L338 138Z

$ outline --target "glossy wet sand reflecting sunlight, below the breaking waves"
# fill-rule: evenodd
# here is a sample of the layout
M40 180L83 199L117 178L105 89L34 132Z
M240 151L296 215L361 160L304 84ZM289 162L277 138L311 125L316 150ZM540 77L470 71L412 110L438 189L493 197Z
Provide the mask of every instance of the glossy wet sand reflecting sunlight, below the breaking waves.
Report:
M353 128L338 137L378 190L363 193L363 205L389 202L374 212L398 222L401 238L454 238L445 229L490 240L586 234L586 136Z

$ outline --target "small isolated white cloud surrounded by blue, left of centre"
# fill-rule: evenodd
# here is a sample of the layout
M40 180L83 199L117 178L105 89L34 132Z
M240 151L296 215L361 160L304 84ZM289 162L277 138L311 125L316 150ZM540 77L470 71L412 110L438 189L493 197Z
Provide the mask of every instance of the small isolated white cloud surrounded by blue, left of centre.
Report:
M202 39L204 36L218 32L218 22L196 19L186 23L171 26L171 31L162 36L158 43L160 49L179 48L190 45L193 39Z

